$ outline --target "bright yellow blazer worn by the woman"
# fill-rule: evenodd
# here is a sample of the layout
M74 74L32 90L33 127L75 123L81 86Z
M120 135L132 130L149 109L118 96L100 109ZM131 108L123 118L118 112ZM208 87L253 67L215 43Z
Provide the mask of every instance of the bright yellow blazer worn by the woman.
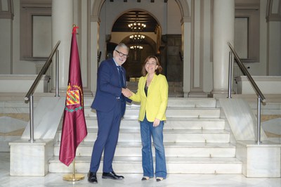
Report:
M133 93L131 100L141 102L141 109L138 120L146 118L149 122L154 122L155 118L166 120L166 106L168 104L168 82L164 75L154 75L148 87L148 96L145 96L145 84L148 75L141 77L138 82L138 91Z

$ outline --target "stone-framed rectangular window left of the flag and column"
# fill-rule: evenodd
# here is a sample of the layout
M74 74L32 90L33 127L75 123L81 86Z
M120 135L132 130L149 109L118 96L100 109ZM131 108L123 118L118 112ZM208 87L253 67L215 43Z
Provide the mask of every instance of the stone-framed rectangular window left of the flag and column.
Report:
M51 0L20 1L20 60L41 60L51 53Z

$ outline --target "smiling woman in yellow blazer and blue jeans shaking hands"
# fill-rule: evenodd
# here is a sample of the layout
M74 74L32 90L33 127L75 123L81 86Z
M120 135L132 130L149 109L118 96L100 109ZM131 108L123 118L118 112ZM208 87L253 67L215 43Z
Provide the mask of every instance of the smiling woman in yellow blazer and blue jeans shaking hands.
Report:
M156 181L166 179L166 158L163 145L163 127L168 103L168 82L161 75L162 67L156 56L148 56L143 63L137 93L131 100L141 102L138 120L141 124L143 181L154 177L151 136L155 146Z

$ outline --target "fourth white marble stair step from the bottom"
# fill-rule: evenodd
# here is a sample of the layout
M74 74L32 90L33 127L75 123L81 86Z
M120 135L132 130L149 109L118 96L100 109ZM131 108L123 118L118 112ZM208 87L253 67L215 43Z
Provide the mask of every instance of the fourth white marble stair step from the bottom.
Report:
M88 129L98 128L96 117L86 117ZM120 129L140 129L138 117L121 120ZM219 118L168 117L164 129L225 129L225 120Z

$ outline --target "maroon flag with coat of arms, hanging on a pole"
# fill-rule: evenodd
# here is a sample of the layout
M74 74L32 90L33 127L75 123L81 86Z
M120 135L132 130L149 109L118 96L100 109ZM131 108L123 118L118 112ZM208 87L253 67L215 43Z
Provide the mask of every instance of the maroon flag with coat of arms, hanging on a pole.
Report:
M73 27L72 30L70 69L63 115L63 131L60 139L60 162L67 166L74 160L77 147L87 136L83 86L76 39L77 28Z

